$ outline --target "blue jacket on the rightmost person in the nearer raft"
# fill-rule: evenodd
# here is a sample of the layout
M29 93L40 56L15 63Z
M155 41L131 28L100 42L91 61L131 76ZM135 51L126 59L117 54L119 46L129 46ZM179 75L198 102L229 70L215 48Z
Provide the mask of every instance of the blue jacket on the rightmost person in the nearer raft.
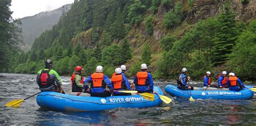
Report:
M149 80L149 87L148 86L136 86L136 90L139 90L139 91L150 90L150 92L153 92L154 82L153 82L152 75L150 73L147 73L147 80ZM135 76L133 82L135 85L138 85L137 75Z

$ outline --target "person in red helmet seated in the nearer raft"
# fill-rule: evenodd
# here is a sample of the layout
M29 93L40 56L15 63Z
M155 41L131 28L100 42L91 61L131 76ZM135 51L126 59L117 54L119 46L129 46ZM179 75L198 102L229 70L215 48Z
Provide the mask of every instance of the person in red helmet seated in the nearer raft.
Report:
M71 76L72 92L83 92L84 76L82 75L83 67L77 66Z

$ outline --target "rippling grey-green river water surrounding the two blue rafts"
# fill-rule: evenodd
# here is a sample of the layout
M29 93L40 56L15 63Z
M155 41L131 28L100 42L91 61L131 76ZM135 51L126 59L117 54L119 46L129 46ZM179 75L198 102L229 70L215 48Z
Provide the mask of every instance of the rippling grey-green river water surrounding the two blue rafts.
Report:
M25 100L20 107L4 107L15 99L40 92L36 75L5 74L0 77L0 125L40 124L256 124L256 100L196 100L166 96L170 104L153 108L117 108L92 112L57 112L40 108L36 97ZM61 76L65 92L71 90L70 77ZM166 82L156 82L161 89Z

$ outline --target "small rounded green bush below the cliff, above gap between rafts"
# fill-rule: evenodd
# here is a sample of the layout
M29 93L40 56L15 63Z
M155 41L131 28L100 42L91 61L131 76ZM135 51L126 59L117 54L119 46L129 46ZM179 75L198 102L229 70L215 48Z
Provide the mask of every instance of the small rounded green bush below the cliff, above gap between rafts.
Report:
M176 40L177 40L176 37L173 36L172 34L165 36L160 40L161 48L163 48L164 51L170 51Z

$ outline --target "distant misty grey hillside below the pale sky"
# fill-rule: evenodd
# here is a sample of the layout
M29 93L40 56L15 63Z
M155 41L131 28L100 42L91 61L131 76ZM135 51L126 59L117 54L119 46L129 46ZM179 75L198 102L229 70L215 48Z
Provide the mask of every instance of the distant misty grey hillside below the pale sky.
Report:
M25 46L22 50L28 52L36 37L39 37L45 30L58 23L63 12L67 12L71 8L71 4L67 4L52 11L38 13L34 16L21 18L22 37Z

